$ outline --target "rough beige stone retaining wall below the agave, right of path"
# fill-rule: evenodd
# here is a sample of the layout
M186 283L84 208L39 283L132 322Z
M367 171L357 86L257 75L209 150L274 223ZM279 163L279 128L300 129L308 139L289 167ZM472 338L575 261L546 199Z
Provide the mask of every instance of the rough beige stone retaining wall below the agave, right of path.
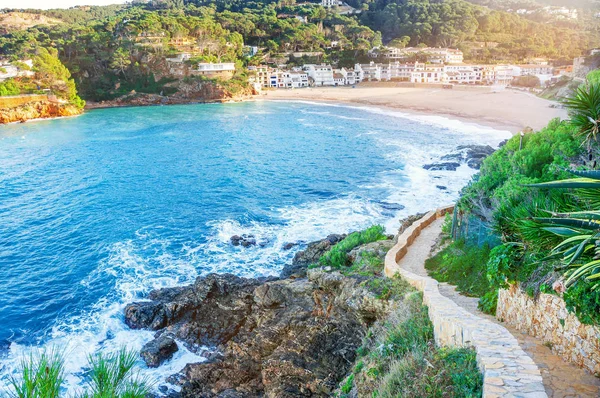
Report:
M564 361L600 374L600 327L579 322L562 298L541 293L534 300L512 285L500 290L496 317L547 343Z

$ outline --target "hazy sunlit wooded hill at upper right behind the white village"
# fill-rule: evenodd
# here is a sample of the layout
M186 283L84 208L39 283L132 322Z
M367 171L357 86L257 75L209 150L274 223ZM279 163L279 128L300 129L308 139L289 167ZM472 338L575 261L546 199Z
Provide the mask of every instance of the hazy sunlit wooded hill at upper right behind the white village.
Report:
M580 27L538 23L514 13L490 11L463 0L353 0L368 5L361 22L389 41L410 37L410 45L459 47L467 58L486 62L530 57L572 59L591 47L597 32ZM493 43L472 51L470 42Z

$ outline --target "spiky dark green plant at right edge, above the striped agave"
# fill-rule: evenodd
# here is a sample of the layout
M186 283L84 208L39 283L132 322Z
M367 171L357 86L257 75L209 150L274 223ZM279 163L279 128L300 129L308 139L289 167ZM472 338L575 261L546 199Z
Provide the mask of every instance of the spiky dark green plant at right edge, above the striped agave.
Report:
M588 82L581 85L575 93L563 100L569 109L571 124L577 128L578 135L588 144L597 142L600 135L600 83Z

